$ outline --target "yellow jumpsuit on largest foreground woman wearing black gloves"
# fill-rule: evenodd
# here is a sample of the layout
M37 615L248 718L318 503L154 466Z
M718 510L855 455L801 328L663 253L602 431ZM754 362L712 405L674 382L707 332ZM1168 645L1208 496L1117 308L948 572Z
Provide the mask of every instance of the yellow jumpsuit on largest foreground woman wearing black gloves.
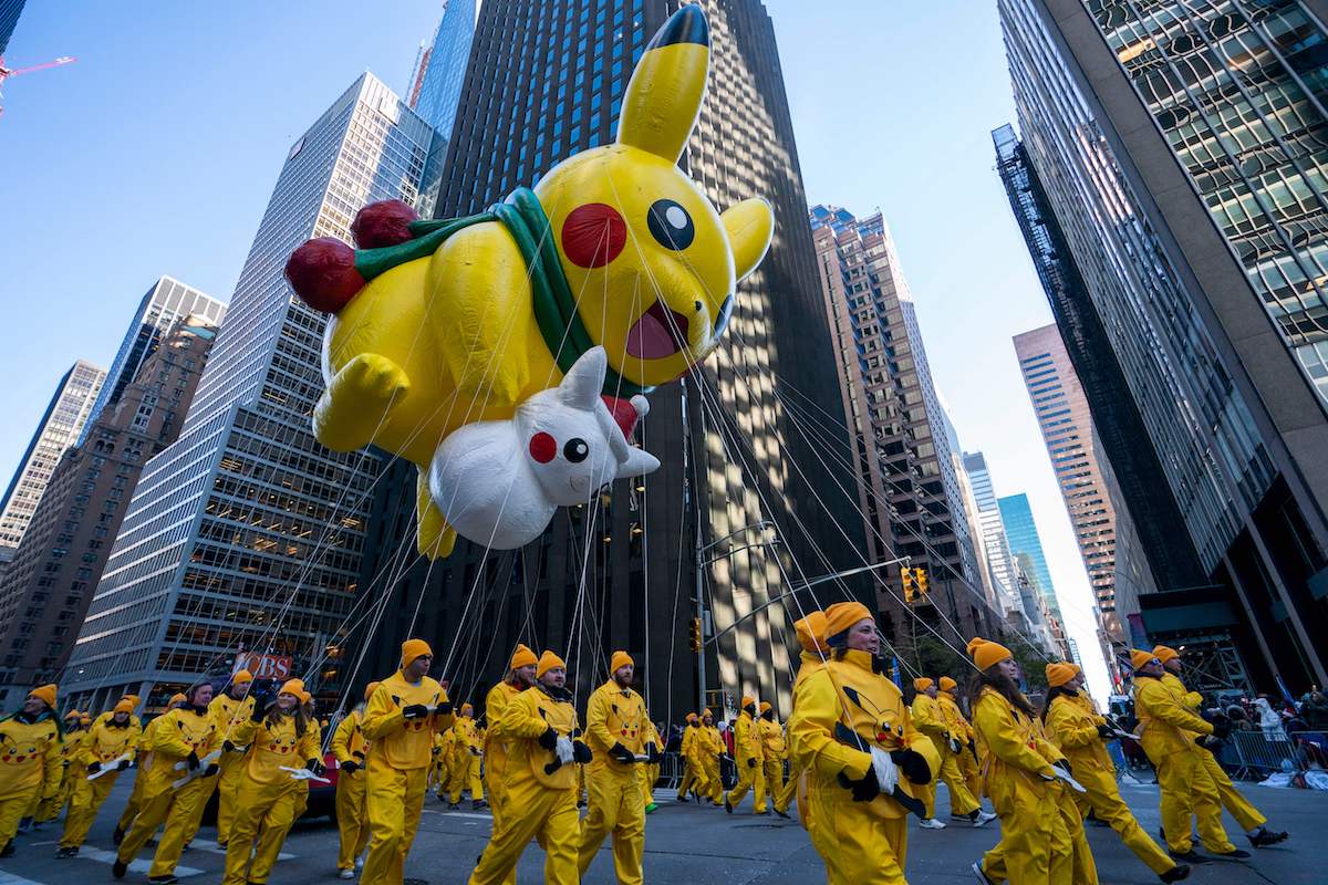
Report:
M914 728L898 686L872 671L869 653L850 649L798 687L789 735L794 760L807 772L807 800L815 820L809 833L826 865L826 878L830 885L902 885L908 812L886 793L854 801L839 783L841 774L863 779L872 764L870 754L837 736L841 724L867 746L920 754L931 772L940 760L931 740ZM903 772L899 785L912 797L924 795L924 787Z

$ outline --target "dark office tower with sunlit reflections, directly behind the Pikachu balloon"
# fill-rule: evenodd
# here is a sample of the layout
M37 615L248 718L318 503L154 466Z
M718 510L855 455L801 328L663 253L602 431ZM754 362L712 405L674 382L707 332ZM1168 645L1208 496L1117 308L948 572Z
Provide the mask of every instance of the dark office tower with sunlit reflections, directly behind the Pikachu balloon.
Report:
M758 0L701 5L710 80L683 166L718 208L769 199L770 252L740 287L734 318L700 377L651 394L643 438L661 467L644 482L620 483L596 507L560 511L543 537L514 553L485 556L462 541L446 560L394 572L413 533L414 495L414 468L397 467L376 504L364 576L393 590L377 659L365 665L374 675L396 665L394 644L408 632L434 642L453 694L470 699L482 699L518 640L567 653L583 686L603 678L610 650L624 647L644 670L656 718L677 720L696 703L688 622L700 586L708 636L738 625L706 646L708 687L733 698L757 693L786 714L797 609L778 597L790 582L865 563L853 476L827 467L835 462L825 454L847 448L842 415L813 427L785 405L814 402L834 414L839 395L772 23ZM676 8L485 3L436 215L479 210L612 141L633 64ZM697 539L708 547L700 557ZM819 584L817 598L851 590L870 600L863 576L851 580L859 584Z

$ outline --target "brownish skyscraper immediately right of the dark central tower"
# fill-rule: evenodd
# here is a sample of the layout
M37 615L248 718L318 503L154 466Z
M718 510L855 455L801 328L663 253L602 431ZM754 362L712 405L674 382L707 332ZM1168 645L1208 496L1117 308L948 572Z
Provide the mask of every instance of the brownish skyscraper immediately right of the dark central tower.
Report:
M989 612L964 510L948 418L936 397L912 296L880 212L858 219L814 206L811 236L821 271L858 504L874 561L911 556L930 593L911 606L952 644L989 636ZM899 567L882 572L883 629L891 642L912 636Z

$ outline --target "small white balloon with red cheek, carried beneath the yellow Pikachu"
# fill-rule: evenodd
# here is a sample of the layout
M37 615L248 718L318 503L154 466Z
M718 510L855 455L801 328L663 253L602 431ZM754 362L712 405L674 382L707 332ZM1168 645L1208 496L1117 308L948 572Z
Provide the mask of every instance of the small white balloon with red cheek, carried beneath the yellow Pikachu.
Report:
M438 446L429 494L448 524L493 549L539 537L559 507L584 504L615 479L660 462L628 443L599 393L608 358L591 348L563 377L517 407L510 421L463 425ZM649 411L632 397L636 417Z

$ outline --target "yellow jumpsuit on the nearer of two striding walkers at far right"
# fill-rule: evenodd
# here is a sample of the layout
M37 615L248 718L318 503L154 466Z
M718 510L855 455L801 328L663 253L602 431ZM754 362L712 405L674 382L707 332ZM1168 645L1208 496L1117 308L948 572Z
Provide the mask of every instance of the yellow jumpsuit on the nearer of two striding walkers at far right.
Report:
M1235 851L1222 829L1218 787L1204 770L1193 736L1212 734L1212 726L1190 713L1166 682L1142 673L1134 674L1134 714L1139 718L1139 743L1158 772L1162 831L1170 849L1185 854L1194 848L1193 815L1204 848L1219 854Z

